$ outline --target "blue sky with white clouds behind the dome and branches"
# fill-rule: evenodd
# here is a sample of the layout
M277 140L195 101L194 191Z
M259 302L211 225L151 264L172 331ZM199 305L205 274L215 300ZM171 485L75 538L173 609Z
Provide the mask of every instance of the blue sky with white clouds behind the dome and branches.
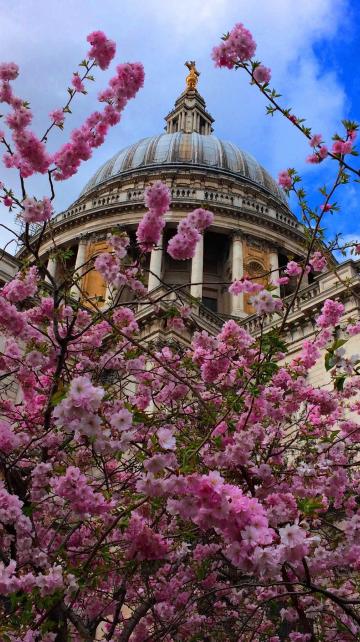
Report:
M99 165L116 151L163 130L163 117L184 88L187 59L195 59L201 71L199 90L215 118L216 135L252 153L274 176L285 167L296 167L312 202L321 202L316 189L329 179L331 164L307 165L306 141L279 116L265 115L263 98L245 76L213 66L211 48L235 22L252 31L257 56L272 68L274 86L314 131L328 140L340 131L342 118L360 118L358 0L0 0L0 60L20 65L16 93L30 101L39 133L49 111L63 104L72 72L87 51L90 31L102 29L116 40L117 61L140 60L145 66L144 89L106 143L75 177L57 184L57 211L76 199ZM52 150L96 108L97 91L111 72L96 73L95 86L78 97L64 134L52 137ZM355 163L360 165L357 159ZM12 172L0 171L0 180L17 186ZM345 188L344 210L328 219L329 234L360 238L358 190L358 184ZM36 179L28 191L42 197L47 186ZM2 222L12 222L1 207L0 216ZM0 231L2 244L7 238Z

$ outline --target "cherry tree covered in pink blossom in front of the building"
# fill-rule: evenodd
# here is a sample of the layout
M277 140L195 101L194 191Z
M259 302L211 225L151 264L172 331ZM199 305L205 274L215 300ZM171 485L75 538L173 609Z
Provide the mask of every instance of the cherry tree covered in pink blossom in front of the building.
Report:
M277 283L270 274L267 288L246 276L228 284L251 295L261 320L274 315L271 331L255 339L230 319L217 336L198 330L191 344L152 345L140 339L135 307L149 301L146 256L170 207L165 185L146 191L135 247L111 234L96 259L113 292L108 307L90 306L86 292L72 297L79 278L55 281L40 256L56 182L104 142L144 81L140 63L117 66L99 94L102 110L50 154L52 129L115 55L102 32L88 41L82 71L42 137L14 94L17 65L0 65L3 161L20 181L18 194L1 184L0 198L23 222L14 234L27 257L0 298L0 639L358 640L360 373L343 346L360 322L344 321L342 303L329 299L314 338L286 357L286 320L303 276L323 270L335 247L326 246L324 214L335 211L335 192L358 180L348 160L357 125L345 121L329 149L278 103L250 32L239 24L224 37L216 64L249 74L269 113L281 112L309 139L309 162L336 163L337 174L314 210L297 172L281 172L308 229L305 259L290 261ZM28 193L36 173L48 176L47 196ZM181 221L172 258L191 258L212 221L205 209ZM65 263L62 248L53 252ZM289 278L296 292L282 302L274 286ZM126 305L118 296L125 287ZM186 329L194 317L177 297L166 322ZM316 388L307 372L324 355L332 385Z

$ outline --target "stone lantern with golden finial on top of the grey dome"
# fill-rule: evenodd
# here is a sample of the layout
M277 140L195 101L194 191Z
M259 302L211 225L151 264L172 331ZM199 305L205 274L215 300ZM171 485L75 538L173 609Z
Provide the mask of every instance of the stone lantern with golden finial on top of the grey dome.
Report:
M189 69L186 77L186 89L175 101L174 109L166 116L166 133L174 134L183 132L191 134L210 135L214 130L213 117L206 110L206 103L196 89L200 73L197 71L195 61L185 63Z

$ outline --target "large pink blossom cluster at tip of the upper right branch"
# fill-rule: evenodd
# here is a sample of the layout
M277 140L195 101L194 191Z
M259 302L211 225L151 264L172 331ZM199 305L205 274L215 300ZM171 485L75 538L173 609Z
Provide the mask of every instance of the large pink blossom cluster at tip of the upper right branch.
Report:
M248 29L242 23L236 24L227 38L212 50L212 59L216 67L232 69L236 62L246 62L253 57L256 43Z

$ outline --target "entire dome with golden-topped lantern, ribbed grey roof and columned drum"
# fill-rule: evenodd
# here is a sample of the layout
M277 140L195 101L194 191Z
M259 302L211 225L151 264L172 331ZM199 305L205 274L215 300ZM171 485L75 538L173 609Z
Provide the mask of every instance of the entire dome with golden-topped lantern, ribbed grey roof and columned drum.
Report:
M276 276L289 257L303 256L303 231L266 170L250 154L213 135L214 119L196 89L195 63L186 64L187 88L165 119L166 133L142 139L107 161L77 201L54 217L52 233L58 247L73 249L66 268L79 274L85 261L106 249L111 229L120 227L134 235L146 211L144 191L160 179L171 190L172 204L162 242L149 258L148 289L160 283L183 284L214 313L244 317L252 312L249 301L231 297L224 283L245 273ZM192 261L173 261L165 251L167 242L177 223L197 207L212 210L214 223ZM44 260L51 248L52 239L45 235ZM61 266L51 256L48 267L61 278ZM265 283L267 277L262 278ZM81 285L87 297L101 297L105 305L108 293L95 270ZM292 287L290 283L281 294ZM79 288L72 294L79 296Z

